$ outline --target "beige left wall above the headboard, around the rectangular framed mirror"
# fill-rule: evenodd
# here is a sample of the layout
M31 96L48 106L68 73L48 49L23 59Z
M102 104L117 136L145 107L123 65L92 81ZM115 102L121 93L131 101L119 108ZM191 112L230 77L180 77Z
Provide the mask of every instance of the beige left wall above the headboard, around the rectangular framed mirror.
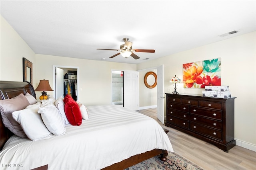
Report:
M0 80L23 81L22 58L32 62L34 68L35 53L2 16L0 23Z

